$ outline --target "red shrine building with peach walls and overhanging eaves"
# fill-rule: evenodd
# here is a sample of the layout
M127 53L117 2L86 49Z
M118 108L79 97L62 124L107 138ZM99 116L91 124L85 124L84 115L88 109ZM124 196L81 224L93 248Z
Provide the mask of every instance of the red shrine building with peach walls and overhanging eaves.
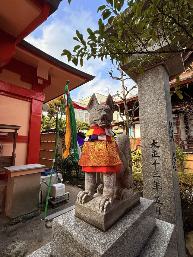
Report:
M72 90L94 78L23 40L57 10L60 2L0 2L0 212L5 209L11 218L25 213L12 215L13 210L6 209L14 199L7 199L8 191L14 192L10 184L16 177L41 170L29 165L39 164L42 104L61 96L66 80ZM27 171L4 170L18 165L26 165Z

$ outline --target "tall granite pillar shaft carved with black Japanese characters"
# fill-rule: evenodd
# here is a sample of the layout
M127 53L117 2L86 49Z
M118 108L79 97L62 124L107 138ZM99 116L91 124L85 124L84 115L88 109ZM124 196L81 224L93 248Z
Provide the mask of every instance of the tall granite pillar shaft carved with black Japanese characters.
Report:
M156 218L176 225L182 257L185 244L167 71L161 64L137 77L143 192L154 201Z

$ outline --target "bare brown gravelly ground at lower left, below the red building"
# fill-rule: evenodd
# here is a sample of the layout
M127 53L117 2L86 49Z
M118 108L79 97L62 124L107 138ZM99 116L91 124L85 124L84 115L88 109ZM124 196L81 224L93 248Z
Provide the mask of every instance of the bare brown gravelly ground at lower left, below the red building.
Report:
M70 192L69 200L67 203L59 205L54 209L47 210L47 214L51 215L55 212L59 212L65 208L68 208L76 202L76 196L81 191L81 188L77 186L65 185L65 191ZM43 218L44 212L42 212L39 216L35 218L28 219L26 221L21 221L14 225L8 225L9 219L5 217L5 214L0 215L0 250L3 250L10 244L19 241L27 242L27 254L39 249L41 246L49 243L51 241L52 236L52 228L45 227L44 240L43 242L39 242L40 235L40 222L41 218Z

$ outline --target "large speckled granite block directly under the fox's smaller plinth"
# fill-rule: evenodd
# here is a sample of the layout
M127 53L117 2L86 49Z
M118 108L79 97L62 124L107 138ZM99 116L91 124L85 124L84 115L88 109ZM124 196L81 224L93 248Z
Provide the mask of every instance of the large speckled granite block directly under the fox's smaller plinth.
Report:
M103 232L74 217L74 210L55 218L52 225L52 257L136 257L155 227L154 203L140 203ZM30 256L31 257L31 256Z

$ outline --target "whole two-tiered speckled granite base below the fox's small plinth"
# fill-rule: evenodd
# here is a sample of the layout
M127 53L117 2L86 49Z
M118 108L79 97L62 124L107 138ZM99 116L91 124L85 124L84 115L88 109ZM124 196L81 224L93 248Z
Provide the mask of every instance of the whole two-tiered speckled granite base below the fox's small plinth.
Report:
M175 226L155 219L153 208L153 201L141 198L106 232L74 217L72 210L53 220L52 242L27 257L176 257Z

